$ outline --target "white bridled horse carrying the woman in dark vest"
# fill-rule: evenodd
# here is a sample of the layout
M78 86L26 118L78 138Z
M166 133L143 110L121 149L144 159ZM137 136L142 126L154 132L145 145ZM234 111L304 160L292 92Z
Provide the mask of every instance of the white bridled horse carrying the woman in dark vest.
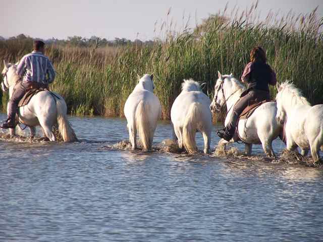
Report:
M219 79L217 80L214 92L214 98L210 105L212 112L219 112L224 105L227 105L227 117L225 125L230 120L234 104L239 100L241 93L244 91L244 86L231 75L221 75L218 72ZM281 132L282 127L276 121L277 107L275 102L267 102L259 106L247 118L238 122L238 132L242 142L245 143L245 153L251 154L252 144L261 144L264 153L267 156L275 157L272 142ZM224 149L226 144L233 143L239 140L235 135L230 142L221 139L219 147Z

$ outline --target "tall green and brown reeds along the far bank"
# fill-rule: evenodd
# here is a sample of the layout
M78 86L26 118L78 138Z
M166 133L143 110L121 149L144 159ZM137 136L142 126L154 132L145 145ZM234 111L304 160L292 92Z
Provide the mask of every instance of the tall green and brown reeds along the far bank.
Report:
M224 11L194 30L164 30L165 39L153 44L48 46L46 55L57 71L52 89L65 97L72 114L123 116L124 103L138 75L153 73L155 94L167 119L183 79L205 82L203 91L212 98L218 70L239 78L250 50L261 45L279 81L293 80L312 104L322 103L323 35L319 30L323 18L318 19L314 10L306 16L288 15L279 21L270 14L264 22L251 24L256 14L256 5L243 13ZM232 19L227 19L228 15ZM0 61L16 62L30 46L23 40L1 41ZM7 98L4 95L3 102Z

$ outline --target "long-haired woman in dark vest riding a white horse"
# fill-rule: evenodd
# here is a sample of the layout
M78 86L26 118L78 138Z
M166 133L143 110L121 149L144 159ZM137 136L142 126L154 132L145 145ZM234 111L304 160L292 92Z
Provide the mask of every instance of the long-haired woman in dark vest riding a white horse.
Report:
M276 73L266 62L266 54L260 46L251 50L250 62L246 65L241 77L241 81L248 84L247 90L241 94L240 99L234 105L228 125L217 132L220 138L227 141L232 139L238 117L249 103L270 100L268 84L276 85L277 80Z

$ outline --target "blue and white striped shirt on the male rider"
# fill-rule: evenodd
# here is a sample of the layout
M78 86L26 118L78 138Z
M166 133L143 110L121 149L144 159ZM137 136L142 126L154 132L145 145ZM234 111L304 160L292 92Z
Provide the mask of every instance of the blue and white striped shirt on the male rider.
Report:
M20 60L17 75L23 77L23 82L52 83L55 71L48 57L42 52L32 51Z

